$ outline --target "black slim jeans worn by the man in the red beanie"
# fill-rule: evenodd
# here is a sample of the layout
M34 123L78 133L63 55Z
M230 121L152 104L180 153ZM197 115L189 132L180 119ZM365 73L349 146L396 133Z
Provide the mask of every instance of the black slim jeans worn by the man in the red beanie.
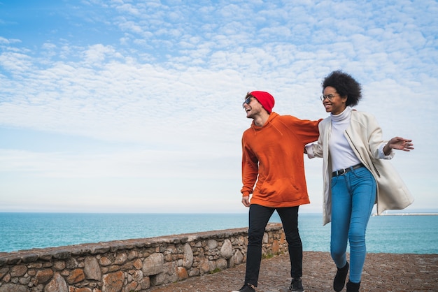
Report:
M249 283L257 286L260 262L262 261L264 229L275 210L278 215L280 215L286 241L288 242L290 277L302 277L303 246L298 232L298 207L299 206L273 208L255 204L250 205L248 252L246 255L246 284Z

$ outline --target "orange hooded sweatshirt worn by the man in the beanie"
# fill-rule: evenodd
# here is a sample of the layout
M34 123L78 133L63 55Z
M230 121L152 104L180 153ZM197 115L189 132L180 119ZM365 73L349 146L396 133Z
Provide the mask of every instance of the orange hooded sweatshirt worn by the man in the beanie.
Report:
M319 122L271 112L263 126L253 122L243 132L241 193L253 194L251 204L294 207L310 203L304 146L318 140Z

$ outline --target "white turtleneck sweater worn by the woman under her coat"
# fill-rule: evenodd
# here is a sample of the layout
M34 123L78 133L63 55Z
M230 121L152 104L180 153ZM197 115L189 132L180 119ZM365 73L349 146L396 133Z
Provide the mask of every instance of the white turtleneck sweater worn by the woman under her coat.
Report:
M332 160L332 171L349 168L360 163L344 136L344 131L350 125L351 107L339 115L330 114L332 117L332 133L330 133L329 153Z

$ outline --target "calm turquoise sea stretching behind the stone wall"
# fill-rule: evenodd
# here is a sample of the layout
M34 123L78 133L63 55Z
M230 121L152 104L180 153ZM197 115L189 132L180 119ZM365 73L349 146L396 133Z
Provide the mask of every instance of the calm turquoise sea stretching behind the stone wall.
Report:
M274 212L270 222L281 222ZM101 214L0 212L0 252L162 235L247 228L248 214ZM438 254L437 214L372 216L367 251ZM330 224L300 213L304 251L330 251Z

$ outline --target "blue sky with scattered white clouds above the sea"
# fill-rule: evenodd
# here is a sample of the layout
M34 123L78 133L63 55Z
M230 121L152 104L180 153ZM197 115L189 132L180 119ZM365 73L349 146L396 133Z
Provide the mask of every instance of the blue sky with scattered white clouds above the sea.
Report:
M1 1L0 212L246 212L246 92L327 117L331 71L438 210L437 1ZM322 161L306 159L322 210Z

